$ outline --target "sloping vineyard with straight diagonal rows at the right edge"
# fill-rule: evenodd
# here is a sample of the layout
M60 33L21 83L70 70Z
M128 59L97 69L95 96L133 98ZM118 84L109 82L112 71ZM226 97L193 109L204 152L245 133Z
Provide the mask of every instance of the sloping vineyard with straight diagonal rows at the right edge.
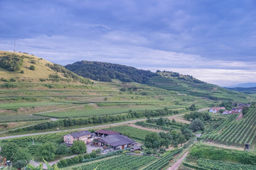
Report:
M206 140L225 145L244 146L245 143L252 145L255 142L256 132L256 108L251 107L242 120L236 121L237 115L230 115L223 125L213 130Z

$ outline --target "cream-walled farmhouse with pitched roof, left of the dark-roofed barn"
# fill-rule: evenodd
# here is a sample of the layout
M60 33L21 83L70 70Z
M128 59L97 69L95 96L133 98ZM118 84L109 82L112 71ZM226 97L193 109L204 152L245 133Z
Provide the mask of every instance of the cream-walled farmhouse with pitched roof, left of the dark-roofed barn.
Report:
M85 143L89 143L91 141L91 133L87 130L81 132L72 132L68 135L64 135L64 142L67 145L72 145L75 140L82 140Z

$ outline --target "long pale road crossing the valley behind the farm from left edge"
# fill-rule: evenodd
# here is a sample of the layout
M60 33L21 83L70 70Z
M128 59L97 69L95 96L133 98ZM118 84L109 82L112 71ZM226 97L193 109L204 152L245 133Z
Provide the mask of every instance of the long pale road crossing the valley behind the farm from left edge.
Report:
M181 116L181 115L184 115L184 113L180 114L180 115L171 115L171 116L167 116L164 118L175 118L175 117ZM143 121L146 119L147 118L137 119L137 120L129 120L129 121L125 121L122 123L111 123L111 124L107 124L107 125L97 125L97 126L91 126L91 127L87 127L87 128L76 128L76 129L70 129L70 130L89 130L89 129L94 129L94 128L105 128L105 127L109 127L110 125L123 125L123 124L129 124L129 123L136 123L137 121ZM25 134L25 135L7 136L7 137L0 137L0 140L7 140L7 139L15 138L15 137L25 137L25 136L32 136L32 135L43 135L43 134L56 133L56 132L68 132L70 130L58 130L58 131L52 131L52 132L38 132L38 133L31 133L31 134Z

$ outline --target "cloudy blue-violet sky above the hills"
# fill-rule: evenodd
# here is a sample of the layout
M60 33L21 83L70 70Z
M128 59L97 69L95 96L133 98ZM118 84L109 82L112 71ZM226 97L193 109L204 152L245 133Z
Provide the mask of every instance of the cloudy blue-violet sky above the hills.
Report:
M0 50L256 82L255 0L0 0Z

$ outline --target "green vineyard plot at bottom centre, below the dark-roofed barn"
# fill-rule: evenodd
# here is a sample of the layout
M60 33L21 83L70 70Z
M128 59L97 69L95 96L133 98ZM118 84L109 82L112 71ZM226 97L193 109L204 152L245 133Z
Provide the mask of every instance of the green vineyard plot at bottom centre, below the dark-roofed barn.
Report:
M78 166L73 170L125 170L125 169L138 169L140 166L147 164L156 159L156 157L147 156L129 156L122 155L119 157L110 158L101 162L94 162L84 166Z

